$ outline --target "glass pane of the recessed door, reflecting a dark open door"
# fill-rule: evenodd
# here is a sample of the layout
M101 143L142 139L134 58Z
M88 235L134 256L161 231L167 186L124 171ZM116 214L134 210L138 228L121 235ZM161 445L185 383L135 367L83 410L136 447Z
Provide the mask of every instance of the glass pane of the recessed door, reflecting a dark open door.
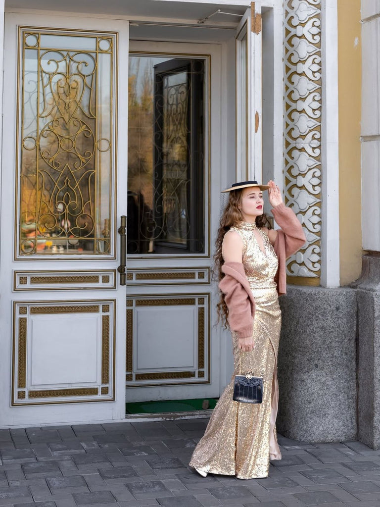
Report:
M129 68L128 253L202 253L204 61Z

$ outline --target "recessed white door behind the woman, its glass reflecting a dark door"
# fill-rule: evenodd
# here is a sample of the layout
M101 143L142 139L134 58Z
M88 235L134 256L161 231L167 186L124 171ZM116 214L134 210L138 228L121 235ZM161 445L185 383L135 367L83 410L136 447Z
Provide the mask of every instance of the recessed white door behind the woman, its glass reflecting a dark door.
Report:
M129 57L126 401L217 397L221 48L131 41Z

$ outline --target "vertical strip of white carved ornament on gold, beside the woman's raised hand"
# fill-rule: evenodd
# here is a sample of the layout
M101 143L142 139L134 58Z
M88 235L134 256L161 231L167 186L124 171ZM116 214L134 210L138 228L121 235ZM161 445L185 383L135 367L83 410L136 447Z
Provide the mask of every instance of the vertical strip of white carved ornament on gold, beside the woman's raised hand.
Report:
M288 260L287 274L316 284L321 273L320 7L320 0L284 2L285 202L307 238L305 247Z

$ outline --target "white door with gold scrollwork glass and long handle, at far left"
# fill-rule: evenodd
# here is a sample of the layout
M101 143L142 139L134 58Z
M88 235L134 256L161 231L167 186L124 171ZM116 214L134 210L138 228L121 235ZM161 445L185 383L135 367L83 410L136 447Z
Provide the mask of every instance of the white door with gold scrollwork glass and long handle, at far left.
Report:
M0 426L125 416L128 22L6 15Z

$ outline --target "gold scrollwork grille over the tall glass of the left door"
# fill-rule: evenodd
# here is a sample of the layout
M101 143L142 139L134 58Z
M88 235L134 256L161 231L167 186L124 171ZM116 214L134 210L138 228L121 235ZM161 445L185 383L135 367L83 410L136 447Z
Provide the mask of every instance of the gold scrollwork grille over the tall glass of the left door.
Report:
M115 37L20 28L20 256L111 253Z

